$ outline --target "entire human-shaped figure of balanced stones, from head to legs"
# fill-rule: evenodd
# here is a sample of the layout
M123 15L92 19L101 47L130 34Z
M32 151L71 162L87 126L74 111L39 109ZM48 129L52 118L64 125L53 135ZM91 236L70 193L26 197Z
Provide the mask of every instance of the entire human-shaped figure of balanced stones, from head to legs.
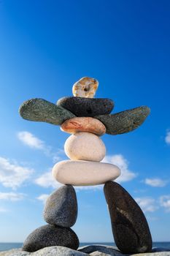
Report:
M101 162L106 147L101 135L118 135L138 128L150 114L142 106L110 114L112 99L93 98L98 81L81 78L74 83L74 97L63 97L57 104L45 99L29 99L20 106L20 116L29 121L60 125L72 134L64 144L69 160L53 167L53 177L63 184L47 198L44 219L47 225L34 230L23 244L23 250L35 252L46 246L77 249L79 239L71 227L77 220L77 197L74 186L104 184L115 244L121 252L150 252L152 237L147 220L135 202L114 180L120 176L116 165Z

